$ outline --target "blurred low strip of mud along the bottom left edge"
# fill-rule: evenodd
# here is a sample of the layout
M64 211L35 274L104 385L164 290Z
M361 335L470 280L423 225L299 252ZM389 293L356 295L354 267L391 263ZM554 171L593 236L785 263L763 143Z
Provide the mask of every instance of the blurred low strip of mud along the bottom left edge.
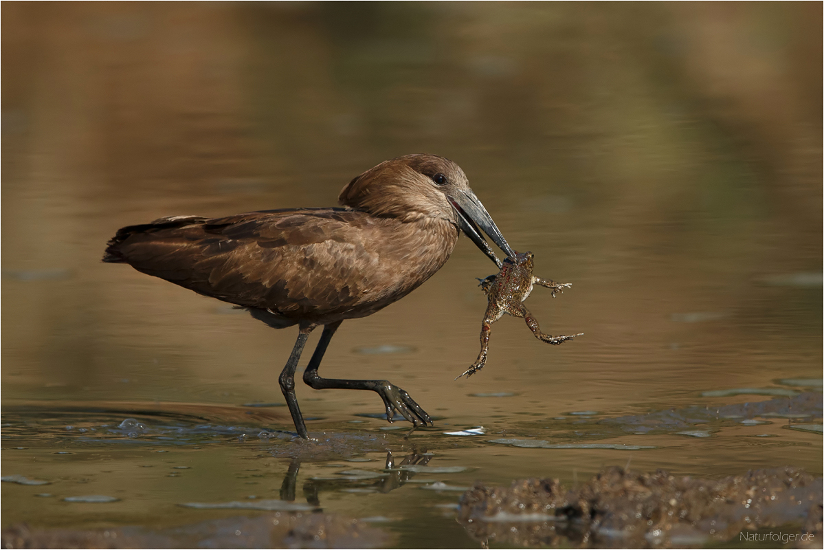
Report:
M157 531L30 529L18 524L2 532L2 548L377 548L390 542L381 529L358 519L283 512Z

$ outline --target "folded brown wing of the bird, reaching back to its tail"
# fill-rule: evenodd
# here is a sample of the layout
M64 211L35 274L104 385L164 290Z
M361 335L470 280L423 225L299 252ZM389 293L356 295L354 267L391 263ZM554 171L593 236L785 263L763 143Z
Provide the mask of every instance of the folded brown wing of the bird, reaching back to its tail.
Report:
M120 229L104 261L240 306L322 317L358 308L369 294L379 264L368 247L376 223L346 209L162 218Z

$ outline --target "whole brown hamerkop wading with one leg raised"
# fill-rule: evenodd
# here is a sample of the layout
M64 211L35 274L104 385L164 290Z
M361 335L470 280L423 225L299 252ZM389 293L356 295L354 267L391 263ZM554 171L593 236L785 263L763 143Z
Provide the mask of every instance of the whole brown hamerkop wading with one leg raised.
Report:
M500 267L482 229L512 249L475 196L461 167L444 157L406 155L382 162L345 186L343 208L278 209L227 218L171 216L120 229L103 261L180 284L245 308L269 327L297 325L280 388L297 434L307 439L294 375L309 333L321 341L303 374L315 389L368 389L412 422L432 424L386 380L321 378L318 367L344 319L366 317L418 288L443 266L461 231Z

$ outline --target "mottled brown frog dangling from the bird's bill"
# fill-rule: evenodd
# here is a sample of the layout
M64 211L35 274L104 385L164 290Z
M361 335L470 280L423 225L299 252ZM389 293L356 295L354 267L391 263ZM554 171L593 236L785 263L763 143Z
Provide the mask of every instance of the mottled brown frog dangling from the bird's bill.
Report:
M569 336L550 336L541 332L538 321L535 317L532 317L527 306L523 305L524 300L529 297L536 284L551 289L553 298L555 298L555 294L572 286L571 283L556 283L554 280L544 280L532 275L534 258L535 256L531 251L523 253L516 251L515 256L508 256L503 261L497 274L479 279L479 286L485 292L488 300L484 320L480 326L480 354L478 354L478 359L469 369L456 376L456 380L461 376L469 378L472 374L484 368L487 351L489 350L489 334L492 330L492 323L503 317L504 313L513 317L522 317L538 340L553 346L572 340L576 336L583 336L583 332Z

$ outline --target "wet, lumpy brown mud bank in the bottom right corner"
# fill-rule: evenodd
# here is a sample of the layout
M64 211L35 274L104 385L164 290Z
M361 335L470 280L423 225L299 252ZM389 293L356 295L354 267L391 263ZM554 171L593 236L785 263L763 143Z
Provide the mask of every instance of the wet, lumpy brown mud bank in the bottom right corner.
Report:
M784 544L822 548L822 478L789 467L719 480L613 467L574 489L553 479L476 485L458 521L483 543L522 546L694 548L782 527Z

